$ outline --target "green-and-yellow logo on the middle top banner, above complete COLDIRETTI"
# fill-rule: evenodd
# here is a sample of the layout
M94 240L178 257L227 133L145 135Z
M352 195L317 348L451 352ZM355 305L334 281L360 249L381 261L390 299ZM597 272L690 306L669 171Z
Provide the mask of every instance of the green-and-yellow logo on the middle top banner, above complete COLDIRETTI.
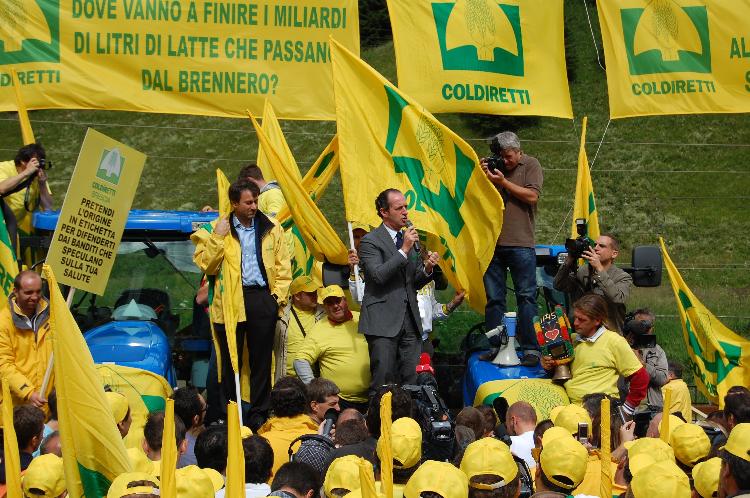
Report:
M491 0L432 4L445 70L523 76L523 39L518 5Z

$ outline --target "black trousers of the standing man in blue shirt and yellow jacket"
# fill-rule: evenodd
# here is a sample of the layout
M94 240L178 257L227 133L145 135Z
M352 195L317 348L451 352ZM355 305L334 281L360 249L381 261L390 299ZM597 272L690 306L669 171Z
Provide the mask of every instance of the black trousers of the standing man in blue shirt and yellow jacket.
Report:
M278 319L278 304L268 288L243 287L244 322L237 324L237 361L242 371L244 344L248 344L250 366L250 412L244 424L253 432L268 419L271 398L271 358L273 338ZM221 348L221 387L227 400L237 401L234 371L224 324L214 324Z

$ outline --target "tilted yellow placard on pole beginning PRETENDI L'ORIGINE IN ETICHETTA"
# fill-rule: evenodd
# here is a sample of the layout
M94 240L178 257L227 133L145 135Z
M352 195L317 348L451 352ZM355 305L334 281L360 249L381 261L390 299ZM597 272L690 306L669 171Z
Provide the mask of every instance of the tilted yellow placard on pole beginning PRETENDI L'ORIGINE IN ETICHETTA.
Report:
M47 255L57 280L103 294L146 155L89 128Z

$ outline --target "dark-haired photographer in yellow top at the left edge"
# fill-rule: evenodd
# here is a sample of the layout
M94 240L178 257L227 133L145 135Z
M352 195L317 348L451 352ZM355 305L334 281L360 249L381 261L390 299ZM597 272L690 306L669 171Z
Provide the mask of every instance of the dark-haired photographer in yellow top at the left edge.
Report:
M52 195L47 188L47 170L51 167L44 147L38 143L18 149L13 161L0 162L0 198L9 208L3 209L9 232L13 227L23 226L37 207L43 211L52 209ZM9 211L15 220L8 219Z

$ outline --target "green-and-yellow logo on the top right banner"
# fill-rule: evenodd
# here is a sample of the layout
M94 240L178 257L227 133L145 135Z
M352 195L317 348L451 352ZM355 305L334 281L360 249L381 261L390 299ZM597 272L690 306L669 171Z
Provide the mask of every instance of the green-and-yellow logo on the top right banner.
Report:
M630 74L710 73L711 43L705 5L650 0L620 10Z

